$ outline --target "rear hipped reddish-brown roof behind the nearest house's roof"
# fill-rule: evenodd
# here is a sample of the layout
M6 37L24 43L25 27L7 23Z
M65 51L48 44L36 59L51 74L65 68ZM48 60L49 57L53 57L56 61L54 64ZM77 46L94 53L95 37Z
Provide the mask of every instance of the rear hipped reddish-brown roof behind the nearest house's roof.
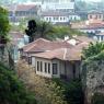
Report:
M71 48L73 47L71 44L67 42L50 42L44 38L38 38L33 43L24 46L22 49L25 53L38 53L38 51L47 51L57 48Z

